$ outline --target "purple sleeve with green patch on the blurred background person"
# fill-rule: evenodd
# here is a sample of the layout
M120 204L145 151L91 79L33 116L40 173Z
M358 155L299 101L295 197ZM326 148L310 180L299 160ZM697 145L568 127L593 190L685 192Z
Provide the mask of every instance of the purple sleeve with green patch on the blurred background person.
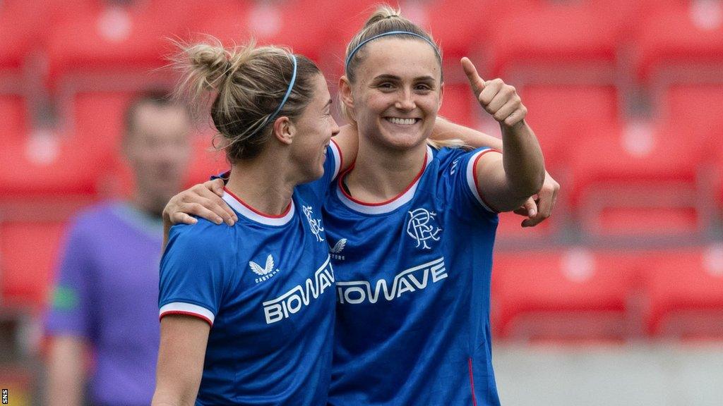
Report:
M92 238L82 220L69 228L56 269L56 280L46 314L49 335L72 334L92 338L93 267Z

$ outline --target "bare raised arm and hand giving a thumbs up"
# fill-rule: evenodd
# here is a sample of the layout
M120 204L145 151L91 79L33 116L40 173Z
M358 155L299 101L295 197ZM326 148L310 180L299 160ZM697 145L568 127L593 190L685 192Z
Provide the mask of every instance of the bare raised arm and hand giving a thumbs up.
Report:
M545 177L542 150L524 121L527 108L514 87L502 79L485 82L469 59L461 63L480 105L502 129L502 156L484 154L476 163L477 189L495 210L518 209L542 189Z

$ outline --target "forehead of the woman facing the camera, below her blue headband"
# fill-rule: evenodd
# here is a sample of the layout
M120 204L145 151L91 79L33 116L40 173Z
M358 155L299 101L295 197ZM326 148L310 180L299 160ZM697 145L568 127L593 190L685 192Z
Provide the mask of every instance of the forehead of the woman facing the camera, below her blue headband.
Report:
M421 39L379 38L364 46L359 74L376 77L391 74L398 77L440 75L440 62L432 46Z

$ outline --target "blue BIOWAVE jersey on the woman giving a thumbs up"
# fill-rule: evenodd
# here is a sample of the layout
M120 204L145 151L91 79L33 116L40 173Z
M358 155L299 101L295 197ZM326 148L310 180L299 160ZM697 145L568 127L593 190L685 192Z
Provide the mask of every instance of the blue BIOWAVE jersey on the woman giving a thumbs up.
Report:
M330 405L499 405L489 329L497 214L474 177L489 151L429 148L416 181L383 204L355 201L343 179L332 188Z

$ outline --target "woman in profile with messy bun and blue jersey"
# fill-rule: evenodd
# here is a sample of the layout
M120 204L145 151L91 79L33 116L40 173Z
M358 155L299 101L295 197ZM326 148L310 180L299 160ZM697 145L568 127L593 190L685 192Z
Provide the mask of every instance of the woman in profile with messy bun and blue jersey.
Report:
M176 66L179 94L215 93L223 200L239 220L170 230L153 405L325 405L334 276L317 213L341 163L325 79L253 45L181 46Z

